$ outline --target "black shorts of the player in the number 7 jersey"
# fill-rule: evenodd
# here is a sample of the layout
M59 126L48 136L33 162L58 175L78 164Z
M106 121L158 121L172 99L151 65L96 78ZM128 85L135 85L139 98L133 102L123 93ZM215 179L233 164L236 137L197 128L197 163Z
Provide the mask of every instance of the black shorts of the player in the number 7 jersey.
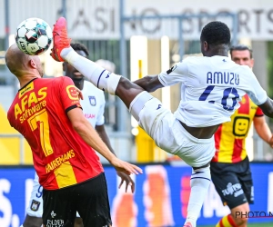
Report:
M76 212L83 219L84 226L102 227L112 224L105 173L59 190L44 189L43 200L45 227L54 224L73 227Z

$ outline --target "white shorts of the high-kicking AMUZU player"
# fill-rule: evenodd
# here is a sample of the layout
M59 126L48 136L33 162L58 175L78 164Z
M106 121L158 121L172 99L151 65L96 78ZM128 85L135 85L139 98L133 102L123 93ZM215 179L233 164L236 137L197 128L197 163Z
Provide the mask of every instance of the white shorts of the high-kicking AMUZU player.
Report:
M137 101L136 101L137 102ZM164 108L157 98L152 98L139 113L139 125L167 153L176 154L192 167L209 163L215 154L214 137L197 139Z

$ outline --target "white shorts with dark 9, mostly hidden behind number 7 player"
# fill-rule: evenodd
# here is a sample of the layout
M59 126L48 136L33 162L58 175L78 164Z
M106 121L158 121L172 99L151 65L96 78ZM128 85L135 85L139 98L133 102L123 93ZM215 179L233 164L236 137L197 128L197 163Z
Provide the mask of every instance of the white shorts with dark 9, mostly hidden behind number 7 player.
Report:
M43 215L43 187L39 183L39 177L35 173L33 188L30 196L30 201L26 209L26 214L31 217L42 218ZM76 217L80 217L76 212Z

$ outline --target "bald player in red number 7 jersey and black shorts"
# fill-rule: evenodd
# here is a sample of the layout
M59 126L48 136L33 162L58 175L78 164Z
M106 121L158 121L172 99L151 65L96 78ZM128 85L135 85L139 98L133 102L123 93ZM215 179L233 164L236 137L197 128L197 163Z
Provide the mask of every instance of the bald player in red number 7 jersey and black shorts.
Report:
M43 226L72 227L76 211L85 226L111 226L106 178L93 148L118 171L141 170L117 159L102 142L79 108L70 78L42 78L39 57L21 52L16 44L7 50L5 62L21 87L7 118L32 149L44 187Z

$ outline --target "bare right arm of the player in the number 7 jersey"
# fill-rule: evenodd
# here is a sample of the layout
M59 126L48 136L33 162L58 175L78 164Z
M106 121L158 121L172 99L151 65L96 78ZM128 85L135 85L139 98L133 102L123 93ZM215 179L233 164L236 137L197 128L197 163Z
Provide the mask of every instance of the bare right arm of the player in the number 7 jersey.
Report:
M116 158L116 156L109 151L106 144L103 143L96 130L86 120L83 112L79 108L72 109L67 112L67 116L72 123L76 132L83 138L83 140L98 153L103 155L109 163L111 163L116 171L124 172L126 174L142 173L142 170L134 164L126 163Z

